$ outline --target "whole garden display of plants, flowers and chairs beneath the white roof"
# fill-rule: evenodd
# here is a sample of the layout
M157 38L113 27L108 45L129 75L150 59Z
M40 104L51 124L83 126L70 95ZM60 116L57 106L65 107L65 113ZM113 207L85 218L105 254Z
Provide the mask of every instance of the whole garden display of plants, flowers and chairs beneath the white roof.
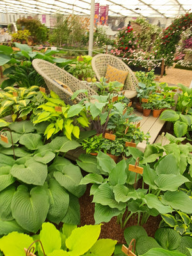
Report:
M192 13L99 27L93 56L87 22L0 45L0 256L190 256L192 88L166 72L191 77Z

